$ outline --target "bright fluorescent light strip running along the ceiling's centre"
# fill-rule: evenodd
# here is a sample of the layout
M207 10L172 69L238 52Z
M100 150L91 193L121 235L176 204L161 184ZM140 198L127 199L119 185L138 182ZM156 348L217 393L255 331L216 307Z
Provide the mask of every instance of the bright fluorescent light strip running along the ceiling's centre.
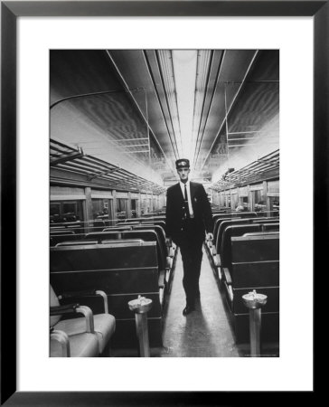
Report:
M188 158L192 163L195 148L192 131L197 50L174 50L173 65L183 147L180 158Z

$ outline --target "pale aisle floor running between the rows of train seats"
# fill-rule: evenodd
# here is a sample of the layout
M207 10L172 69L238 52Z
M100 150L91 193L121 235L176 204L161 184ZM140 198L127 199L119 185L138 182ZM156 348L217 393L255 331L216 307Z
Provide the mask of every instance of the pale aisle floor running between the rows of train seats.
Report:
M235 344L229 310L221 295L203 248L200 301L195 311L183 317L183 262L177 253L172 289L164 311L163 346L152 347L151 357L240 357L249 356L249 344ZM276 344L263 346L263 353L277 356ZM134 357L134 349L113 349L114 357Z

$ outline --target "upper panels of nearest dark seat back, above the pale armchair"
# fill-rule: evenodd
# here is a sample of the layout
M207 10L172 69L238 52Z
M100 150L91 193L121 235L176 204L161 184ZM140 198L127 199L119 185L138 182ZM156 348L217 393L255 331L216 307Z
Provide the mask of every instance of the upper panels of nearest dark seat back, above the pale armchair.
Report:
M155 241L55 247L50 267L52 287L61 293L95 287L108 295L158 289ZM127 302L122 307L129 314Z

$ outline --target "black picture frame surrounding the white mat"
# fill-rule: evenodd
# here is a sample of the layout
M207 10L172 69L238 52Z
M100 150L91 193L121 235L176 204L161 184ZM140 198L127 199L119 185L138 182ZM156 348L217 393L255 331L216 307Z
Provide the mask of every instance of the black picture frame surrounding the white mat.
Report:
M328 1L2 1L1 2L1 405L231 405L244 393L16 391L16 20L19 16L313 16L314 17L314 259L328 238ZM321 225L321 226L320 226ZM325 231L324 231L325 232ZM325 263L324 263L325 264ZM316 315L316 314L315 314ZM10 335L7 335L10 332ZM316 387L314 387L316 390ZM307 392L315 393L315 392ZM258 402L261 393L253 395ZM278 395L278 392L277 392ZM271 401L277 395L271 396ZM248 396L247 396L248 397ZM274 398L273 398L274 397ZM304 395L303 395L304 397ZM241 402L242 405L246 402Z

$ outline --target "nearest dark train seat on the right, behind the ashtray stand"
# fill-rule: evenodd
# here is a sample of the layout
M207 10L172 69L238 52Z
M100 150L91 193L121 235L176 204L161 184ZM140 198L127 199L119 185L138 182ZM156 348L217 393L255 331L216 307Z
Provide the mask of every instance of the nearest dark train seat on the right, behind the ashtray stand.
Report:
M250 227L245 225L244 227ZM260 225L258 225L260 226ZM249 340L249 312L242 296L252 289L268 296L262 308L262 339L278 338L279 234L250 232L231 237L231 263L223 269L224 289L237 342ZM263 325L264 322L264 325Z

